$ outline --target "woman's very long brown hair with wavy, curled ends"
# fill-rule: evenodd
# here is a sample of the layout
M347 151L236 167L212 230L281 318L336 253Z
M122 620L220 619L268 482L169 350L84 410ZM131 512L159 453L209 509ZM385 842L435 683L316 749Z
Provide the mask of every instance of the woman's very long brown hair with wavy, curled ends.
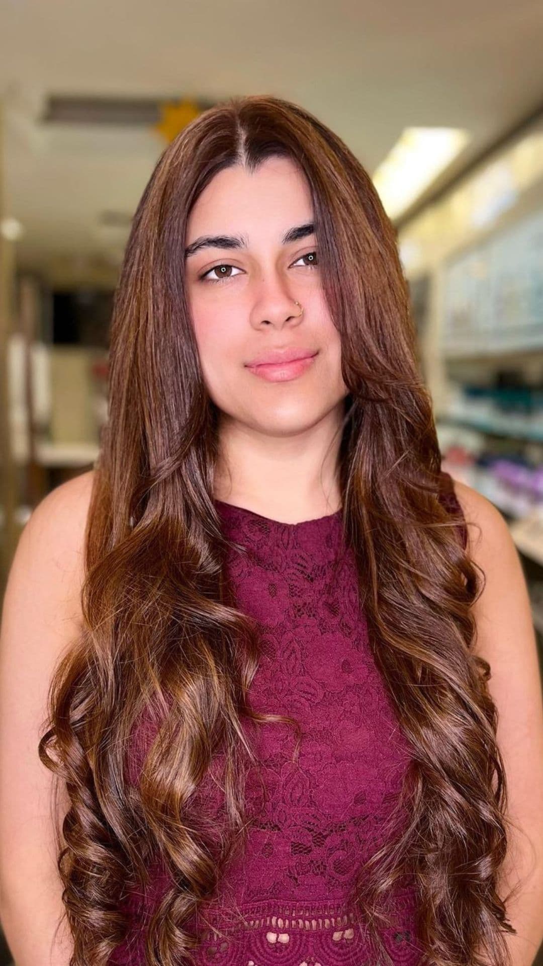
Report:
M486 954L506 966L502 933L516 931L498 893L507 791L490 666L472 646L484 574L459 539L461 515L440 498L442 456L395 232L343 141L272 96L219 103L163 151L115 293L81 633L55 668L39 746L71 802L56 830L71 966L108 961L129 929L128 885L145 889L157 862L170 887L149 919L146 959L192 962L197 939L186 923L245 841L244 779L247 766L258 766L245 725L297 724L250 707L258 628L226 591L230 545L214 506L217 412L183 270L187 217L202 190L223 168L253 171L269 156L292 158L310 185L320 277L349 390L343 532L374 658L413 750L399 799L409 821L360 863L353 895L386 963L386 896L410 874L425 961L475 966ZM130 743L145 716L154 736L133 783ZM217 834L198 824L191 803L219 750Z

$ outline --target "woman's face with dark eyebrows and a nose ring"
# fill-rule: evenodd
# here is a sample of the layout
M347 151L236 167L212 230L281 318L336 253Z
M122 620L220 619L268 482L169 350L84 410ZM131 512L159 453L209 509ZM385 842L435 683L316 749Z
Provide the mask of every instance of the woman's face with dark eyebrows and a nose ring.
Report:
M223 417L269 434L313 426L348 392L312 223L303 173L278 156L252 175L220 171L188 218L186 291L205 383ZM249 368L276 350L312 358Z

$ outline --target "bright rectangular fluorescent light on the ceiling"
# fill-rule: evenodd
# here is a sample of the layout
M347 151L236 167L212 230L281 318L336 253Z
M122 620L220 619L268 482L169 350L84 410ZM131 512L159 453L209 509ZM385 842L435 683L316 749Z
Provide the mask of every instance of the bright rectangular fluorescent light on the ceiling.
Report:
M460 128L404 128L372 179L388 217L405 212L470 137Z

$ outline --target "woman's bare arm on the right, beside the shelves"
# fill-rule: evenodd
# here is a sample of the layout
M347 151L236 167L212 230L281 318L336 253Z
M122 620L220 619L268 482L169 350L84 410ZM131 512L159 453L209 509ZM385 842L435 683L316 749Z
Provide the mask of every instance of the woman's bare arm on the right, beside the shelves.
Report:
M497 740L508 785L510 838L500 897L522 883L505 903L517 935L505 937L512 966L531 966L543 940L543 699L529 592L519 554L500 511L455 480L470 524L470 553L484 571L485 588L473 606L474 650L490 664Z

